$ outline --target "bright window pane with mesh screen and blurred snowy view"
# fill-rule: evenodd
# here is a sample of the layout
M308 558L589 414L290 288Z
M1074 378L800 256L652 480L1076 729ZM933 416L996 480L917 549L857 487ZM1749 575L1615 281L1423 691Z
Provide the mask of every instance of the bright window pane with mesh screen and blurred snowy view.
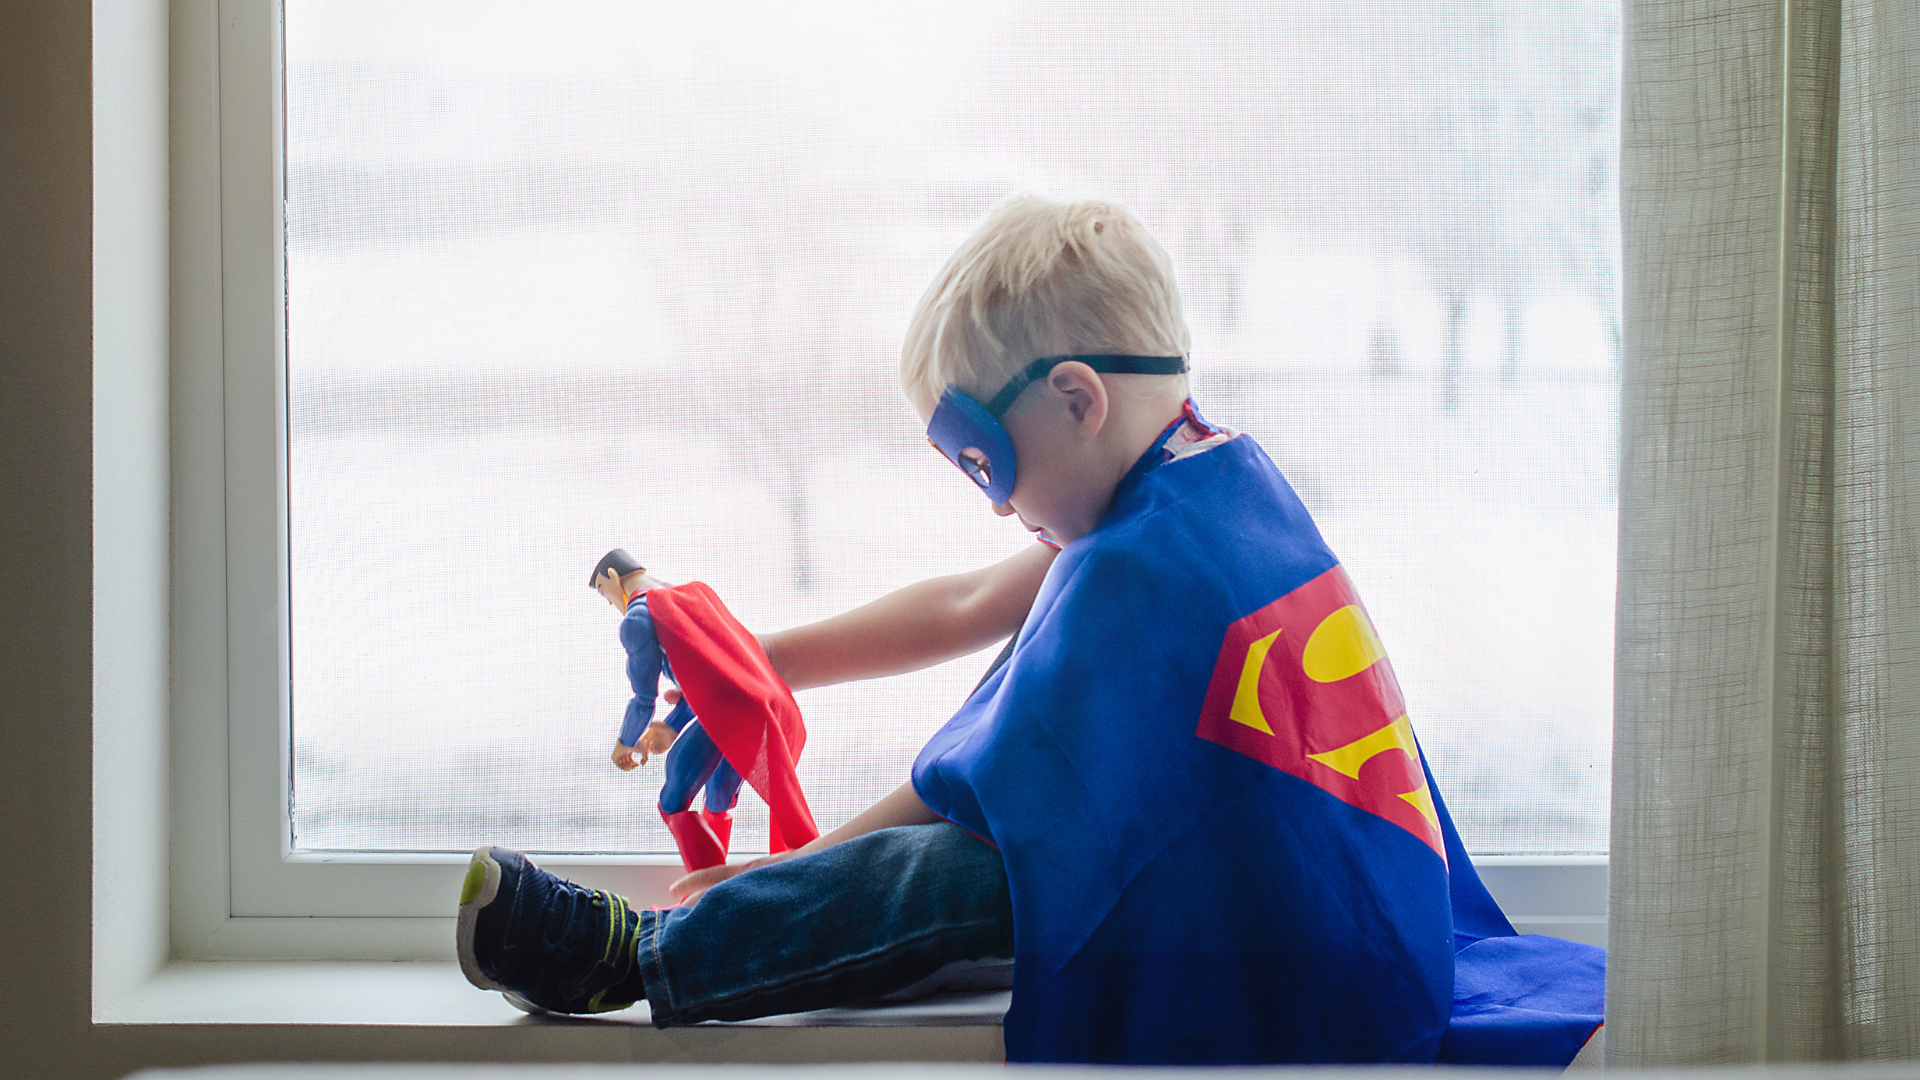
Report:
M607 548L774 630L1029 544L895 365L1039 190L1171 252L1469 847L1605 849L1617 65L1613 4L288 0L296 847L672 851ZM822 828L989 657L801 694Z

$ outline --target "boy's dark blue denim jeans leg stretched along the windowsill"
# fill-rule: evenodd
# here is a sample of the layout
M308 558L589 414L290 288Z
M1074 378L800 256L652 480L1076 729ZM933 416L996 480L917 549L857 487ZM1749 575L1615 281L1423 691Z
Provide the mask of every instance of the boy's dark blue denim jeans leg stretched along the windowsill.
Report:
M653 1022L870 1001L952 961L1014 955L1000 853L956 824L883 828L643 911Z

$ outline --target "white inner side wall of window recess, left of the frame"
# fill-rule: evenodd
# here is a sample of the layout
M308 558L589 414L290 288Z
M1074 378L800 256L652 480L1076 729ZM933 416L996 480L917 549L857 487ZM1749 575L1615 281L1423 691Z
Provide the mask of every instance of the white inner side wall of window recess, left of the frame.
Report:
M94 1011L167 959L167 4L94 33Z

